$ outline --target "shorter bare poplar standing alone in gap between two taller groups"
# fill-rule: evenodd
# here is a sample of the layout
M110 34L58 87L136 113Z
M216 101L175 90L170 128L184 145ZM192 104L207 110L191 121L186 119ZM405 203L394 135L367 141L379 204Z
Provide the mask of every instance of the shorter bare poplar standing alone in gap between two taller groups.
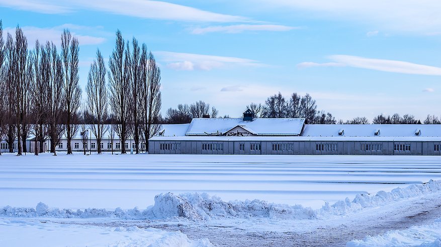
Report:
M100 144L103 134L107 131L104 122L109 115L109 95L106 87L106 65L100 50L97 51L97 60L91 65L86 85L87 110L92 116L91 130ZM98 153L101 154L101 145L98 145Z

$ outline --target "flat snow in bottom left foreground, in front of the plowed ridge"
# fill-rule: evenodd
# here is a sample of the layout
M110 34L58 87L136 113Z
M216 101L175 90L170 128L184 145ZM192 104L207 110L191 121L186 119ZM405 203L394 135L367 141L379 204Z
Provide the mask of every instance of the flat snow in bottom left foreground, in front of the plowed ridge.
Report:
M100 227L59 224L49 220L0 218L0 246L149 246L211 247L207 239L190 240L185 234L154 228Z

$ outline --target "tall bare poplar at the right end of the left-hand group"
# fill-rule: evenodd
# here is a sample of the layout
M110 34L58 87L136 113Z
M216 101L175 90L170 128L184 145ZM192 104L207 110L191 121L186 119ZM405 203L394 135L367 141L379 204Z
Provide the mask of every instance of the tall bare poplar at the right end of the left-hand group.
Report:
M81 88L78 84L78 40L68 30L61 35L61 61L63 64L63 91L67 154L72 154L72 137L78 131L76 113L81 102Z

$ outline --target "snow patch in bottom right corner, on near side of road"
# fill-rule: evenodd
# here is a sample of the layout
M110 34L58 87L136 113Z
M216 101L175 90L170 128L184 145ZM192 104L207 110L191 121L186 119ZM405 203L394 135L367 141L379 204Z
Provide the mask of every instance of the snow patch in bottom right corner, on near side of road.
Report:
M346 247L380 246L441 246L441 218L429 225L412 226L405 230L391 230L383 235L367 236L362 240L352 240Z

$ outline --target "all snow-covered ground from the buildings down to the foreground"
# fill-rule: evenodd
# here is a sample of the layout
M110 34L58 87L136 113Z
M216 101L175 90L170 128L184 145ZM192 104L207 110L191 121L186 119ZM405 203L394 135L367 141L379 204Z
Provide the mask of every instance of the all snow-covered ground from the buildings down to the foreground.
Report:
M397 217L379 208L417 214L423 200L433 216L415 222L433 222L441 182L430 179L441 179L441 157L3 154L0 245L228 246L234 236L219 233L231 228L277 246L287 232L339 229L357 215Z

